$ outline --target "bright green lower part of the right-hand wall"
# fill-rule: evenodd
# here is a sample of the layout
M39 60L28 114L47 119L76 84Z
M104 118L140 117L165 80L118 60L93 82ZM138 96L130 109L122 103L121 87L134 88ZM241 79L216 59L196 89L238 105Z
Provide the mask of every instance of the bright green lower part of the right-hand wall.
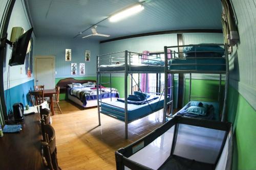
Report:
M233 169L256 169L256 111L233 87L228 90L228 122L234 129Z

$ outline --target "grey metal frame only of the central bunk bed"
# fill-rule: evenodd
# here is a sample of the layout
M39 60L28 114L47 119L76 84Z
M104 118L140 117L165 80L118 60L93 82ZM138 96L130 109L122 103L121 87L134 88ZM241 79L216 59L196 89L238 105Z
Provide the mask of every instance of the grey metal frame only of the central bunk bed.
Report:
M115 55L115 54L118 54L118 53L124 53L124 56L121 56L121 57L111 57L111 55ZM148 71L148 70L146 70L146 71L143 71L143 70L131 70L131 54L137 54L137 55L145 55L145 54L140 54L140 53L135 53L135 52L129 52L129 51L121 51L121 52L116 52L116 53L110 53L110 54L104 54L104 55L98 55L97 56L97 63L96 63L96 69L97 69L97 71L96 71L96 74L97 74L97 96L99 96L99 94L101 94L101 90L99 90L100 88L99 88L99 85L101 85L101 84L103 84L103 83L101 83L101 74L110 74L110 82L107 82L107 83L105 83L105 84L110 84L110 88L111 88L111 91L112 91L112 74L116 74L116 73L123 73L124 74L124 115L125 115L125 117L124 117L124 121L123 120L120 120L120 119L118 119L117 117L115 117L115 116L112 116L112 115L110 115L110 114L105 114L105 113L102 113L101 112L101 109L100 109L100 104L101 103L104 103L104 102L102 102L101 101L101 99L99 99L99 98L97 98L97 104L98 104L98 122L99 122L99 126L101 125L101 122L100 122L100 113L102 113L102 114L104 114L104 115L107 115L107 116L110 116L110 117L113 117L113 118L115 118L115 119L117 119L117 120L120 120L121 122L124 122L125 123L125 139L127 139L128 138L128 124L129 123L131 123L131 122L133 122L133 121L135 121L135 120L137 120L137 119L140 119L140 118L142 118L142 117L145 117L145 116L147 116L147 115L150 115L150 114L152 114L152 113L154 113L154 112L157 112L157 111L159 111L159 110L161 110L161 109L163 109L163 108L160 108L160 109L157 109L157 110L153 110L152 112L149 112L149 113L147 113L147 114L145 114L145 115L142 115L142 116L140 116L140 117L138 117L138 118L136 118L136 119L133 119L133 120L128 120L128 110L127 110L127 95L128 95L128 87L127 87L127 82L128 82L128 75L130 74L131 75L131 78L133 79L133 74L157 74L157 73L164 73L164 70L163 69L160 69L159 71L156 71L156 70L154 70L154 71ZM124 61L118 61L118 62L124 62L124 70L100 70L99 69L99 66L100 66L100 64L102 64L102 63L100 63L100 60L108 60L108 59L101 59L101 57L104 57L104 56L110 56L110 58L109 58L109 62L106 62L106 63L103 63L103 64L109 64L109 65L112 65L112 63L115 63L116 61L113 61L113 59L121 59L121 58L124 58ZM149 56L149 55L147 55L147 56ZM151 60L151 59L146 59L146 60ZM154 60L153 60L154 61ZM147 63L148 64L148 63ZM150 66L150 65L148 65L148 66ZM133 66L133 67L136 67L136 65L135 66ZM133 79L134 80L134 79ZM136 83L137 84L137 83ZM138 85L138 84L137 84ZM173 89L173 81L172 81L172 84L171 84L171 87L170 88L172 88ZM140 90L140 87L139 87L139 85L138 85L138 89L139 89L139 91L141 91ZM99 92L100 91L100 92ZM173 90L172 90L173 91ZM131 93L133 92L133 90L132 90L132 87L131 87ZM158 92L158 93L155 93L155 94L161 94L161 96L163 95L163 92L164 92L164 90L162 91L162 93L160 93L160 92ZM153 92L148 92L148 93L153 93ZM159 98L159 101L160 101L160 99L161 99L161 96L160 96L160 98ZM112 98L111 98L111 101L112 101ZM173 92L172 92L172 100L170 101L170 103L172 103L173 102ZM110 104L108 104L108 105L110 105ZM149 105L149 103L148 103L148 105ZM165 122L165 117L163 117L163 123Z

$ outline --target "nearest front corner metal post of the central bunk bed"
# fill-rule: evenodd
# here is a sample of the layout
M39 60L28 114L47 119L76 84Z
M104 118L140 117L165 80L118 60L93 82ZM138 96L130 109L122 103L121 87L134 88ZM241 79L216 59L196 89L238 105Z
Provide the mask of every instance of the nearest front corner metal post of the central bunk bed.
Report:
M127 59L128 59L128 51L125 50L124 52L124 120L125 120L125 139L128 138L128 109L127 109Z

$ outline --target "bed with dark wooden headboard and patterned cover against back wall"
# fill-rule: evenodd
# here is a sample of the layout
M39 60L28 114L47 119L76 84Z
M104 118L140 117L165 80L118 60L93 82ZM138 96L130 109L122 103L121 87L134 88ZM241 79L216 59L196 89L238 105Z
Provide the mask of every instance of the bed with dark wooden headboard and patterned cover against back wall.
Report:
M88 82L94 82L96 83L95 80L75 80L73 78L67 78L67 79L62 79L60 80L56 86L60 86L60 93L65 93L66 94L66 99L69 99L70 101L72 101L73 103L75 103L78 106L81 106L82 108L90 108L90 107L95 107L97 106L97 92L96 92L96 88L94 87L84 87L84 89L87 90L93 90L94 92L90 94L88 93L84 93L84 97L82 98L82 96L80 96L80 91L79 88L72 88L69 87L69 84L72 83L80 83L80 84L84 84L84 83L88 83ZM91 89L94 88L94 89ZM81 88L83 89L83 88ZM109 89L110 88L105 88L105 89ZM74 92L74 93L73 93ZM108 102L108 101L114 101L117 98L119 98L119 93L118 91L112 89L113 93L106 93L106 92L102 92L101 96L102 96L102 101L104 102Z

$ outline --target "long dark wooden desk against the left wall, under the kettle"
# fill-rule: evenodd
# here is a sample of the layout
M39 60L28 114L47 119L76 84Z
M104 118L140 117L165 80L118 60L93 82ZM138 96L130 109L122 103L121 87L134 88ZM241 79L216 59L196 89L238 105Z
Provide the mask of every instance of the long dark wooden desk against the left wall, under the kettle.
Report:
M0 169L47 169L41 156L40 115L24 119L22 131L0 137Z

